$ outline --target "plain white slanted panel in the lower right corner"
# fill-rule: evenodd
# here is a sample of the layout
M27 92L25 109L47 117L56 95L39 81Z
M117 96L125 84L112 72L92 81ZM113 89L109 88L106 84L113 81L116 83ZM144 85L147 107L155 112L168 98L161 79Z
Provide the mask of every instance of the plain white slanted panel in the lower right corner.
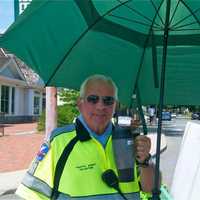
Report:
M174 200L197 200L200 189L200 124L185 128L171 187Z

